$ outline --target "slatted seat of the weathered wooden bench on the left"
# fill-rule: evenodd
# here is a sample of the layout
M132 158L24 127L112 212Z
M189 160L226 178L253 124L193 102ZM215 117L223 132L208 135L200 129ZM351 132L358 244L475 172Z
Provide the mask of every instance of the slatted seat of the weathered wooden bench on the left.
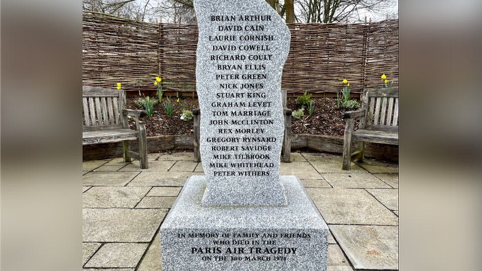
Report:
M120 142L137 139L138 132L131 129L106 129L82 132L82 145Z

